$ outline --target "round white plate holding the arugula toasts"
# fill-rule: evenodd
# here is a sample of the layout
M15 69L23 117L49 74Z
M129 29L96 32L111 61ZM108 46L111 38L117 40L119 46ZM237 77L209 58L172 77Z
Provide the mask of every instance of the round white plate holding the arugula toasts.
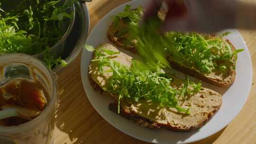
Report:
M126 4L131 5L132 8L137 8L140 5L145 6L146 2L147 0L133 0ZM97 46L100 43L110 43L106 36L108 26L112 22L110 16L123 11L124 7L125 4L113 9L109 14L102 18L91 31L86 43L93 46ZM223 103L218 113L199 130L188 133L172 132L165 129L150 130L148 128L137 126L135 123L130 122L110 111L108 106L114 100L93 90L87 75L88 65L91 60L91 52L83 50L81 59L81 76L86 95L90 100L91 105L111 125L115 126L120 131L143 141L158 144L183 144L198 141L213 135L227 126L229 122L238 115L246 102L252 84L252 64L247 45L237 30L229 31L231 31L232 34L227 36L227 38L233 43L233 45L235 45L236 48L245 49L244 52L238 54L236 81L229 88L217 88L210 84L203 83L204 87L211 88L222 94ZM127 51L122 51L132 55ZM192 80L197 81L193 78Z

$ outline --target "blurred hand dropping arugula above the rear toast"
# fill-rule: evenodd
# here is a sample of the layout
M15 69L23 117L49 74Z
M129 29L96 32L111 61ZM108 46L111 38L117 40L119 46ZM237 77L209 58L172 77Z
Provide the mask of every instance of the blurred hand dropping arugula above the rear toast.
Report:
M218 32L236 27L237 0L151 0L144 14L144 21L165 2L168 7L163 31Z

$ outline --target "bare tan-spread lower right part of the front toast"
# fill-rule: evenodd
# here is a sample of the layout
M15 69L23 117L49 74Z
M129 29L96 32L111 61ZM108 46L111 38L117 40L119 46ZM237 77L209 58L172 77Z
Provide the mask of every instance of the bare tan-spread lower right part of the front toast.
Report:
M120 115L143 127L189 132L204 126L213 117L221 106L221 96L217 92L203 88L184 101L182 106L190 108L190 115L179 113L175 108L159 107L144 99L139 102L122 101ZM110 103L109 108L117 113L117 103Z

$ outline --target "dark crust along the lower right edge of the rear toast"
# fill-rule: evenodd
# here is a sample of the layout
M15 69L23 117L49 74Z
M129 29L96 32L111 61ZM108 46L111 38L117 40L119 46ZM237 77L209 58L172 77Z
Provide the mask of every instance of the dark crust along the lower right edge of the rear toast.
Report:
M229 43L229 45L231 45L232 51L234 51L234 50L235 50L235 46L232 45L228 39L226 40L226 42ZM175 70L177 70L177 71L180 71L180 72L183 72L183 73L185 73L185 74L188 74L188 75L190 75L190 76L193 76L193 77L195 77L195 78L198 78L198 79L200 79L200 80L202 80L202 81L206 81L206 82L208 82L208 83L210 83L210 84L213 84L213 85L216 85L216 86L218 86L218 87L229 87L229 86L235 81L235 78L236 78L236 71L235 71L235 70L232 70L232 71L230 72L230 75L231 75L231 77L232 77L232 80L231 80L231 81L229 81L228 83L225 82L225 81L217 81L216 79L207 78L207 77L205 77L204 75L202 75L202 74L196 72L195 70L192 70L192 69L183 67L183 66L181 66L179 63L176 63L176 62L174 62L174 61L171 61L168 57L167 57L167 60L168 60L168 62L170 63L170 65L171 65L171 67L172 67L173 69L175 69Z

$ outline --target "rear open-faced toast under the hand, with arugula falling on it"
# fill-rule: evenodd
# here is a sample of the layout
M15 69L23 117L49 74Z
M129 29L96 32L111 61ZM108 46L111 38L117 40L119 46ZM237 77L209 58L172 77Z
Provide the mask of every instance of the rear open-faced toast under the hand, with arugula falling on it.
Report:
M227 87L235 81L237 54L243 50L236 50L224 39L229 33L219 37L179 32L160 35L156 28L165 18L164 12L139 27L142 15L142 8L130 9L127 5L124 12L114 16L107 32L109 40L137 52L146 61L160 61L219 87Z

